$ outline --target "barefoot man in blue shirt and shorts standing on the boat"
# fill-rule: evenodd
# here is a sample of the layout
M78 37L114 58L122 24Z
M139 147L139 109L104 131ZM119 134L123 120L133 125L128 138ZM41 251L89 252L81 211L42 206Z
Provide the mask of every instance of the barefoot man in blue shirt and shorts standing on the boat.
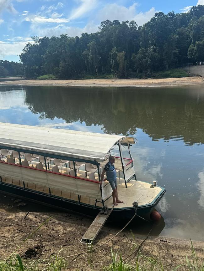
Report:
M123 201L118 199L118 190L117 190L117 176L115 171L115 157L109 156L108 163L105 165L103 172L101 173L101 181L100 184L102 185L104 174L106 173L107 181L109 181L110 186L113 190L112 197L113 197L113 204L118 205L118 203L122 203Z

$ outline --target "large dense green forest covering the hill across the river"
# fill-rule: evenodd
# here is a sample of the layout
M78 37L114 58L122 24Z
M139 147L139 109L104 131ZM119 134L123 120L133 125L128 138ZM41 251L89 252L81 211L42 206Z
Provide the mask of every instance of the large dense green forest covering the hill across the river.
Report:
M105 20L97 33L81 37L32 38L34 43L28 43L19 56L26 78L135 77L204 61L204 6L193 6L188 13L158 12L139 27L134 21Z

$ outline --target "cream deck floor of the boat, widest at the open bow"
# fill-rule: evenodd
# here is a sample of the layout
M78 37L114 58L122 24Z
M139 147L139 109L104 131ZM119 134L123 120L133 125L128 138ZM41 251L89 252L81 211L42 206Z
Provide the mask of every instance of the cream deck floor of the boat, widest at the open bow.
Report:
M18 162L18 161L17 161ZM33 161L33 166L35 167L36 162ZM32 166L30 164L29 166ZM54 165L50 165L50 168L52 168ZM61 169L59 168L61 171ZM65 173L69 171L69 168L62 168L62 173ZM79 170L77 171L77 176L82 177L82 178L88 178L86 177L86 172L85 170ZM95 172L95 179L98 180L98 174ZM2 181L8 184L13 184L15 186L23 187L23 182L12 179L10 177L5 177L2 176ZM125 187L125 182L124 179L122 178L117 178L118 182L118 196L123 203L119 203L118 206L115 206L115 208L125 208L125 207L132 207L132 203L137 201L138 205L145 205L150 202L152 202L158 194L161 192L162 188L160 187L153 187L150 188L150 183L147 182L142 182L142 181L135 181L131 180L130 182L127 183L127 188ZM104 182L104 185L108 184L108 181ZM31 182L25 182L25 187L28 189L36 190L39 192L43 192L46 194L49 194L49 188L48 187L43 187L41 185L37 185L35 183ZM56 188L51 188L51 194L53 196L58 196L58 197L63 197L66 199L74 200L78 202L78 195L75 193L70 193L67 191L62 191ZM80 195L80 202L85 203L85 204L90 204L90 205L95 205L96 200L94 198L90 198L87 196ZM112 197L110 197L108 200L105 201L105 204L111 208L113 205ZM102 203L97 202L96 206L102 207Z

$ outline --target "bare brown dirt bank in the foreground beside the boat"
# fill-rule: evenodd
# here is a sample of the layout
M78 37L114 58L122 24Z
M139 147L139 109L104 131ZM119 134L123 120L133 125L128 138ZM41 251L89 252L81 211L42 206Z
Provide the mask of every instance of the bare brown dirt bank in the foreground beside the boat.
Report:
M5 197L5 196L3 196ZM1 207L2 199L1 197ZM19 201L16 198L6 196L7 208L17 207ZM9 202L9 203L8 203ZM57 254L61 249L63 256L72 255L75 253L87 250L87 246L79 243L81 237L86 232L93 219L83 217L76 213L65 212L30 212L26 219L24 219L29 205L32 203L27 202L25 212L9 213L8 211L0 212L0 258L6 258L12 253L15 248L19 246L25 238L27 238L37 227L39 227L47 218L53 215L51 220L42 226L27 242L25 242L19 249L18 253L22 258L26 259L47 259L52 254ZM10 207L9 207L10 206ZM11 210L10 210L11 211ZM18 210L19 211L19 210ZM109 224L110 225L110 224ZM121 227L122 228L122 227ZM102 228L98 237L94 242L94 247L105 243L119 230L114 227L108 227L108 224ZM134 250L135 243L139 244L145 236L137 236L133 238L130 232L121 232L117 237L112 239L109 243L97 249L93 253L93 270L101 271L103 266L108 266L111 263L110 249L112 247L114 252L122 252L122 257L125 258ZM196 255L204 260L204 243L194 242L193 245ZM166 270L172 270L175 266L185 263L185 255L191 255L190 240L181 240L168 237L154 237L150 236L143 243L141 253L145 256L154 255L161 259L166 266ZM91 270L88 260L90 253L72 257L67 259L67 270L75 271L88 271ZM132 255L127 261L134 263L135 255ZM185 267L179 270L186 270Z

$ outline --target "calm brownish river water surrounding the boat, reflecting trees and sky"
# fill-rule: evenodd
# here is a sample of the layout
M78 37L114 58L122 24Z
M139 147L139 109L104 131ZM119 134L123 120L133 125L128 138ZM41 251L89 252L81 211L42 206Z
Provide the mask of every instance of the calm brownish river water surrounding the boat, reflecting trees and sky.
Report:
M0 122L134 135L137 179L167 191L158 234L204 241L203 88L0 85Z

